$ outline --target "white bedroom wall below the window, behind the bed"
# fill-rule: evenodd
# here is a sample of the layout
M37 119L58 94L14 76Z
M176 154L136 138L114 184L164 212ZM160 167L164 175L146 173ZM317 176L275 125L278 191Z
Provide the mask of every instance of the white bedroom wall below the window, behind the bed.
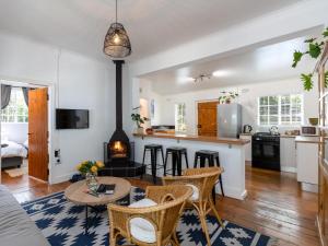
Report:
M1 124L1 134L8 137L8 140L17 143L24 143L27 140L28 124L12 124L2 122Z

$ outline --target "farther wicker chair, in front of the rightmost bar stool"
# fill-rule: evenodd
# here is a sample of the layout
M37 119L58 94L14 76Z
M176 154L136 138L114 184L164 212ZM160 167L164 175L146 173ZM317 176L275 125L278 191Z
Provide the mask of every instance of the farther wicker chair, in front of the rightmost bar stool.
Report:
M163 185L186 185L192 188L194 192L191 198L188 200L188 203L191 204L199 214L201 227L206 235L208 245L211 245L211 239L208 232L206 216L210 211L213 211L222 229L224 229L224 224L215 209L212 198L212 189L222 173L222 167L214 166L186 169L183 176L163 177Z

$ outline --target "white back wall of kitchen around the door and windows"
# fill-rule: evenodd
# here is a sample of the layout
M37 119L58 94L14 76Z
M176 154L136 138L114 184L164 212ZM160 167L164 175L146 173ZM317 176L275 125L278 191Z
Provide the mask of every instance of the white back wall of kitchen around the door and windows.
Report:
M315 103L318 97L317 89L314 87L311 92L304 92L300 79L294 78L173 95L156 95L159 104L161 105L159 112L161 115L161 125L174 125L174 105L176 103L185 103L187 131L190 134L197 133L197 103L218 99L222 91L235 91L241 94L235 102L243 106L243 125L251 125L255 129L266 130L257 126L257 98L265 95L301 93L304 96L304 118L318 117L318 107ZM149 95L148 97L151 97L153 93ZM145 97L145 95L143 96ZM289 128L281 130L284 131L286 129Z

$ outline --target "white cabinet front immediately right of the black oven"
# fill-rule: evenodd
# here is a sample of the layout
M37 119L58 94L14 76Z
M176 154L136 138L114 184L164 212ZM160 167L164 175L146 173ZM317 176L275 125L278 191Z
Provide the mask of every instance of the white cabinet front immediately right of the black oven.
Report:
M283 172L296 173L295 137L280 138L280 166Z

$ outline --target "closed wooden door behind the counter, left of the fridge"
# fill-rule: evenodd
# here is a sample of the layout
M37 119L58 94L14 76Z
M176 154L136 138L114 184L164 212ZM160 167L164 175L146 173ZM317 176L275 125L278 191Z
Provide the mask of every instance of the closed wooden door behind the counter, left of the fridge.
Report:
M216 137L218 121L216 121L216 106L218 102L198 103L198 134Z

